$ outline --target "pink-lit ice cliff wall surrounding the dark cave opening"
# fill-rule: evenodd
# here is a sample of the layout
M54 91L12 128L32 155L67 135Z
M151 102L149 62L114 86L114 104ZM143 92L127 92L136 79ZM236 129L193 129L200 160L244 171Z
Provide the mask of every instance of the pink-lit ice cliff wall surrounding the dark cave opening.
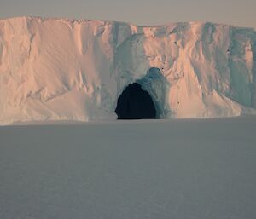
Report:
M137 82L158 118L255 113L256 33L202 22L0 20L0 124L117 118Z

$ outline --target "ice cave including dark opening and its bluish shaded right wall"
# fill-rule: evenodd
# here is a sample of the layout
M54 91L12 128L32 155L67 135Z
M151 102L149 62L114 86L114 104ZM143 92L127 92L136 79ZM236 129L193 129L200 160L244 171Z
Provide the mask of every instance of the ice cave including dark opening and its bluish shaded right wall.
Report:
M166 78L159 68L152 67L146 75L128 84L119 95L115 109L119 119L164 118Z

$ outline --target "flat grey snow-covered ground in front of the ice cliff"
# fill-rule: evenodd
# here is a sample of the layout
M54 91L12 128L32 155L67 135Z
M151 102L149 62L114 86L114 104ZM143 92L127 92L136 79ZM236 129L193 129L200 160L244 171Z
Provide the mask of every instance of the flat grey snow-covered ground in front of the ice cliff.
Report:
M255 219L256 118L0 127L1 219Z

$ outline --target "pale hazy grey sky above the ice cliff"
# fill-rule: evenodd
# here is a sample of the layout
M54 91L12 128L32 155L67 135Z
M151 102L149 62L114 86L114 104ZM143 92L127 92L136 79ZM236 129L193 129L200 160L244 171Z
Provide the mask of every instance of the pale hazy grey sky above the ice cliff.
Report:
M0 0L0 18L117 20L137 25L212 21L256 29L256 0Z

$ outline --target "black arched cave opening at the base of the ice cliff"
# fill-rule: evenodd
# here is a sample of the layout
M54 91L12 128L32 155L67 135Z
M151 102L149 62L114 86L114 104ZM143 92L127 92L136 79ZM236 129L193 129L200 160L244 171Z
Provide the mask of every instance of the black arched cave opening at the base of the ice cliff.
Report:
M119 96L115 109L118 119L156 118L154 102L140 84L129 84Z

